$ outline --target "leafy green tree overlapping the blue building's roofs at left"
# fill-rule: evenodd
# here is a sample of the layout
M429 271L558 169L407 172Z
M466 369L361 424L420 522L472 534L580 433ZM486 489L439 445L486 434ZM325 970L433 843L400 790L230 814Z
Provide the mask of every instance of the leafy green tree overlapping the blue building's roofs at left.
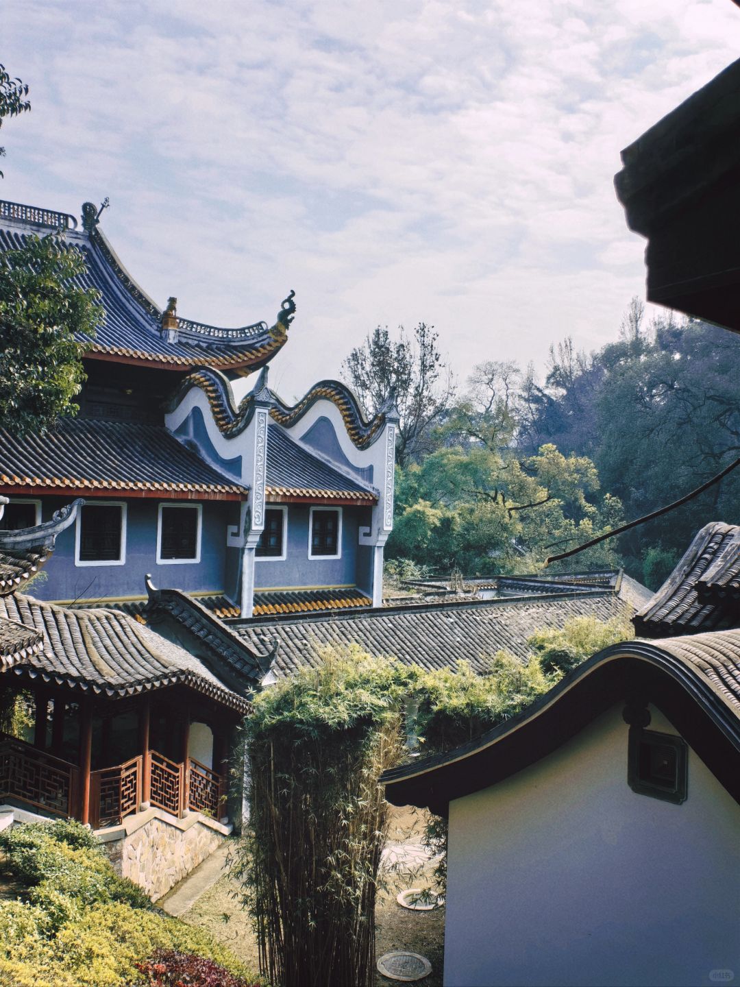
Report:
M99 292L75 283L80 252L52 234L0 256L0 420L42 430L74 415L85 373L79 336L95 335Z

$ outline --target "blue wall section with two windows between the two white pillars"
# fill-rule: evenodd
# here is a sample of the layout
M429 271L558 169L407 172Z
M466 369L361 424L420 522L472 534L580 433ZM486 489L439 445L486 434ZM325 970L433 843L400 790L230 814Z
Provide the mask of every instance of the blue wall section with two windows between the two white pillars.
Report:
M270 504L267 504L269 508ZM277 506L277 504L275 504ZM357 541L360 524L369 524L370 511L363 507L341 507L341 559L309 559L309 504L288 504L288 547L284 562L255 560L255 588L274 586L340 586L358 584L358 558L366 569ZM367 587L367 579L361 583Z

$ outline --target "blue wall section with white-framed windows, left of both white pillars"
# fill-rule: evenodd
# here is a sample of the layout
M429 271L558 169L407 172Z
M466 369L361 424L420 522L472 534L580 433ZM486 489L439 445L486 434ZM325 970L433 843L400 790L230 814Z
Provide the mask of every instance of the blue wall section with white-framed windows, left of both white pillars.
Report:
M144 576L151 572L155 585L188 591L223 592L233 584L238 549L227 549L226 528L239 523L239 503L202 501L200 563L157 565L157 508L154 499L125 499L127 503L126 562L124 566L75 566L75 525L70 525L56 540L53 556L44 566L46 580L30 590L44 600L99 599L104 597L146 595ZM90 501L95 502L91 497ZM42 519L69 502L69 497L41 500ZM100 502L104 502L103 499ZM168 502L164 499L164 502ZM180 501L181 503L183 501ZM227 578L232 582L227 586Z

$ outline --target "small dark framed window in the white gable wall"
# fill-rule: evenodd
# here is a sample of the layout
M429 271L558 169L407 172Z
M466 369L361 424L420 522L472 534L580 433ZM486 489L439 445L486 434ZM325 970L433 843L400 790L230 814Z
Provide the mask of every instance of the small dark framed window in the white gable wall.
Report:
M639 795L680 803L687 797L686 742L671 733L629 729L629 787Z

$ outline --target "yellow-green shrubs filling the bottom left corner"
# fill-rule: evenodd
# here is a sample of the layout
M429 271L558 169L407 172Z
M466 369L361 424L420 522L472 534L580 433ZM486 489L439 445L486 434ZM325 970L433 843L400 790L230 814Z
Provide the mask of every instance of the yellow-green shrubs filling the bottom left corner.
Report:
M119 877L79 823L30 823L0 835L5 866L27 901L0 902L0 984L133 987L136 963L159 949L195 953L249 978L207 933L165 915Z

